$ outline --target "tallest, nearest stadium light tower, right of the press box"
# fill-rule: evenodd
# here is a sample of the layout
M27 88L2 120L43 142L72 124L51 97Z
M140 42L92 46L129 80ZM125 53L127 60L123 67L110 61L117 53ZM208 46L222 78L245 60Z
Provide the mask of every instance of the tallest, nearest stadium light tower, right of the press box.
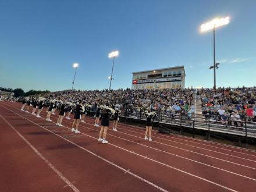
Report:
M214 31L214 65L209 68L214 69L214 89L216 89L216 69L218 69L219 65L219 63L215 63L215 29L217 27L225 26L226 24L229 24L229 17L216 18L214 20L211 20L211 22L207 22L201 25L202 32L209 30Z

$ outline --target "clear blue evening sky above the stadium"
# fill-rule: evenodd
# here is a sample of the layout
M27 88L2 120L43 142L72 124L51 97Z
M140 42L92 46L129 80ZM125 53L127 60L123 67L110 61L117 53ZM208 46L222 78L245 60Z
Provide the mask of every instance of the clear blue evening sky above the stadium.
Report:
M112 88L131 87L132 72L184 65L186 87L256 85L256 1L0 0L0 87L28 90L106 89L111 51L118 50Z

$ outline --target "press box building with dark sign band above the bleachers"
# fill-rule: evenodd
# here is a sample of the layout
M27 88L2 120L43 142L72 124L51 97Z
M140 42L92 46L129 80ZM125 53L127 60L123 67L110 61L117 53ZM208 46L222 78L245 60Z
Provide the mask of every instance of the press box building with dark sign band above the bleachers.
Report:
M184 88L185 76L184 66L134 72L131 88L133 90Z

